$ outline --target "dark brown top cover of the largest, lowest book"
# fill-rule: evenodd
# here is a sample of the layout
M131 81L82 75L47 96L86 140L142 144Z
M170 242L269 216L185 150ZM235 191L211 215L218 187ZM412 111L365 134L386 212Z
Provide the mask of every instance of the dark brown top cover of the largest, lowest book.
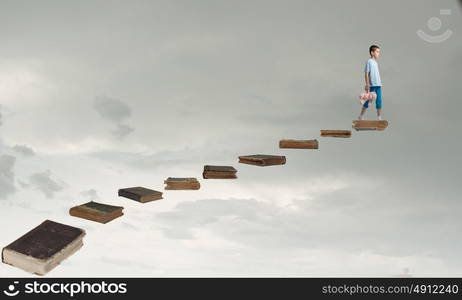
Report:
M75 239L85 235L85 230L45 220L2 250L10 249L26 256L46 260L64 249Z

